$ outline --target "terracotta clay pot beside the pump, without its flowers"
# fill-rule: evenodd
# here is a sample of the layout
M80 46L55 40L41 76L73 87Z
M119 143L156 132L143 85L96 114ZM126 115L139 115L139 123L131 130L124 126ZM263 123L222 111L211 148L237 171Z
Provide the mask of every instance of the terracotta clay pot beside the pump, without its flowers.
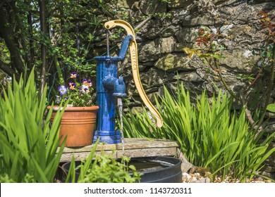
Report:
M51 106L48 106L48 109ZM54 106L51 121L54 120L59 106ZM66 107L61 118L60 134L61 142L67 136L67 147L88 146L92 144L94 127L97 121L99 106L90 107ZM61 144L59 144L60 146Z

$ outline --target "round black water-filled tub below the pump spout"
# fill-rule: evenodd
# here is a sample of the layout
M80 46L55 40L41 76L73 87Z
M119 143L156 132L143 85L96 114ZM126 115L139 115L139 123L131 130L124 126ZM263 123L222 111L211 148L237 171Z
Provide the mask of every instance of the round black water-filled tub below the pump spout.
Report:
M80 162L76 162L78 166ZM63 171L68 174L71 163L62 165ZM173 157L154 156L131 158L129 165L134 165L138 172L142 173L140 182L142 183L181 183L181 160ZM63 182L66 180L63 176ZM78 179L80 172L75 171L75 180Z

